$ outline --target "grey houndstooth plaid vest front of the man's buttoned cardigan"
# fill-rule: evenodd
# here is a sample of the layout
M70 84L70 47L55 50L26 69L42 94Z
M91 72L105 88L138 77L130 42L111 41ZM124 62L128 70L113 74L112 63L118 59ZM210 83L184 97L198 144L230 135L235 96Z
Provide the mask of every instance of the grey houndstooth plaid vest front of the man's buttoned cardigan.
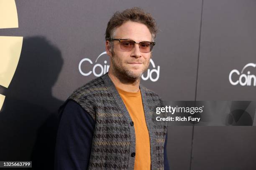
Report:
M153 110L161 99L140 85L150 138L151 170L164 170L167 125L153 122ZM69 99L79 103L95 120L89 170L133 170L135 130L131 117L108 73L75 90Z

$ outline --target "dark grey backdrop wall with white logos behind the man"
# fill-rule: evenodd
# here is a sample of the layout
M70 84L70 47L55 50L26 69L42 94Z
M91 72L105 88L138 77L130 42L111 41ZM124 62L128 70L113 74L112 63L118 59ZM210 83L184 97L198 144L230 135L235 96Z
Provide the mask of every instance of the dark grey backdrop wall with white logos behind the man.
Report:
M254 0L0 0L0 161L51 170L58 108L109 67L105 29L142 7L159 26L141 83L163 100L256 100ZM169 126L172 170L256 169L255 126Z

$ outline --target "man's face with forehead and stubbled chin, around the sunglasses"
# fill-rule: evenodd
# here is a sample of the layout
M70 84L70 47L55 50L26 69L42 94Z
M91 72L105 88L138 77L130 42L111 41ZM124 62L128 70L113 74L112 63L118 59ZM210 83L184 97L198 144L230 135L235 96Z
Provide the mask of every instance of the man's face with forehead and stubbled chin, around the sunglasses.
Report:
M114 32L116 39L129 39L135 42L151 41L151 33L146 25L128 21L116 28ZM113 69L117 75L130 80L140 79L143 72L149 66L151 52L140 52L139 45L136 44L131 51L124 51L120 48L120 42L113 41L113 53L110 54L110 68Z

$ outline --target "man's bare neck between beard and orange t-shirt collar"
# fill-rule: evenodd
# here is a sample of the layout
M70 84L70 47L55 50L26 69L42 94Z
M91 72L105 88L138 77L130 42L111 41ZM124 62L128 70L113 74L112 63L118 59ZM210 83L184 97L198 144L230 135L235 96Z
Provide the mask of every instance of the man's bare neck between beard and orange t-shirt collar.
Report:
M114 85L127 92L138 92L140 89L140 79L129 80L123 76L118 76L112 71L108 72L108 76L114 83Z

